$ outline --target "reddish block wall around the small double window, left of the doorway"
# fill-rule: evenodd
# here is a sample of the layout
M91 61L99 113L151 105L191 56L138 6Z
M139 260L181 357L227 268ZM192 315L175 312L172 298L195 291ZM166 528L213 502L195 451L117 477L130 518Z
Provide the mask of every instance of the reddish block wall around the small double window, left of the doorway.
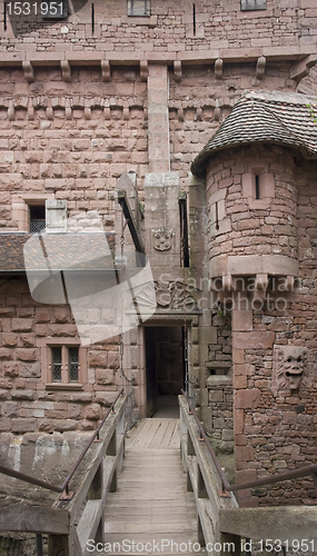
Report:
M26 278L0 282L1 431L90 430L118 394L116 338L87 348L87 384L81 389L47 388L38 340L78 337L67 306L31 299Z

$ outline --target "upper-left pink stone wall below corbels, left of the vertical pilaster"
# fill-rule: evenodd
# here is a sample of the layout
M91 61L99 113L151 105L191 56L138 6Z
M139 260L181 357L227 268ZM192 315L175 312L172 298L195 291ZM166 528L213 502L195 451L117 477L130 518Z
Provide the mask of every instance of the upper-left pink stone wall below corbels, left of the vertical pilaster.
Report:
M7 96L0 100L1 228L18 229L11 196L23 192L66 199L69 216L99 210L113 230L117 179L133 170L141 188L148 168L139 75L121 68L102 83L93 69L80 69L66 83L60 71L42 69L29 86L21 70L6 69L0 80Z

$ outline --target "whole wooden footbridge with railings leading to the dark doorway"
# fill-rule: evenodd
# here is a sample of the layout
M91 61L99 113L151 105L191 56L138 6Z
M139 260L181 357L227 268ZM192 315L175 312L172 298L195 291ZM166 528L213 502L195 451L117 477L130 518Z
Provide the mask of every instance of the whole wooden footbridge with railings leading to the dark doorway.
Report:
M128 435L126 400L61 487L37 483L56 492L69 484L67 492L43 497L40 488L41 503L0 496L0 530L48 534L49 556L230 556L242 537L280 539L290 549L303 539L306 554L317 552L316 506L238 507L184 397L180 425L145 419Z

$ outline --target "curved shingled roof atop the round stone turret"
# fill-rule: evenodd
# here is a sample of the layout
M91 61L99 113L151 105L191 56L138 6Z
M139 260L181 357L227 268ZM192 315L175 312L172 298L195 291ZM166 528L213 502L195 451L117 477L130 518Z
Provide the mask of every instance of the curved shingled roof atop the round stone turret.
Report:
M315 115L317 98L291 92L247 92L196 157L191 171L202 176L216 152L251 143L285 145L299 149L305 158L317 159Z

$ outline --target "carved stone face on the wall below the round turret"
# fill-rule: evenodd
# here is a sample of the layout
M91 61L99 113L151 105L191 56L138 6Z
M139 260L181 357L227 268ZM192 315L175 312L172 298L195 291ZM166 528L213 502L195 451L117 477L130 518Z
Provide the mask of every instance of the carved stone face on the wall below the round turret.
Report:
M276 385L278 390L297 390L308 370L308 349L280 346L276 350Z

